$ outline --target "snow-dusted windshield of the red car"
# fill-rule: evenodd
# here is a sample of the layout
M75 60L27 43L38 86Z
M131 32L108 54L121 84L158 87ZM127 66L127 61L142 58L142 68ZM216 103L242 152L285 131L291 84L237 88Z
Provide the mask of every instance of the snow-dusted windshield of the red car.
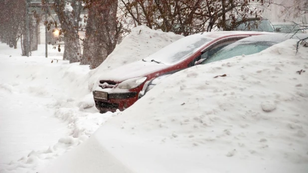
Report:
M176 64L213 39L212 37L206 37L201 34L189 35L144 58L144 61L152 61L167 65Z

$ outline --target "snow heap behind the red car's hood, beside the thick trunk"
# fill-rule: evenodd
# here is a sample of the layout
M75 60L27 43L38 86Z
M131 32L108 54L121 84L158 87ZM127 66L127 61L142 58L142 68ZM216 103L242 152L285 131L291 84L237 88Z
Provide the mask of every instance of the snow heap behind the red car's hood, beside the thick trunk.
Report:
M144 25L133 28L107 59L89 73L89 88L92 90L93 84L106 70L142 60L182 37L184 36L173 32L162 32L160 29L153 30Z

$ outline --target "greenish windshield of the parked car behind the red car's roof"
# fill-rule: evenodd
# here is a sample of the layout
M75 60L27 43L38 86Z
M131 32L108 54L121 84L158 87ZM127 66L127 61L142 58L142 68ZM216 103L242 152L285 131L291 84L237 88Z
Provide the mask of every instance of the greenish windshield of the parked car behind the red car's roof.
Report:
M238 27L236 27L236 30L274 32L274 28L269 20L248 21L240 24Z

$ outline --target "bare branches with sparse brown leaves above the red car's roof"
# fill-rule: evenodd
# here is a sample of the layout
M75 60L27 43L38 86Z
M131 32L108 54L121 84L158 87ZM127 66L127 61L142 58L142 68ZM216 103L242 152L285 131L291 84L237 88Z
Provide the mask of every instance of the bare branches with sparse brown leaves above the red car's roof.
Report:
M136 25L189 35L259 20L271 0L121 0Z

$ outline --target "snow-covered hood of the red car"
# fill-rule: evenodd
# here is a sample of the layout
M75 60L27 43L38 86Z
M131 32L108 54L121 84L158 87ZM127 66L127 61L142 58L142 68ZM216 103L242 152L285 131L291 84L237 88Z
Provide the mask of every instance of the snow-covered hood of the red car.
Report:
M145 76L151 72L155 72L169 66L170 65L140 60L112 70L107 70L100 76L99 80L114 81L119 83L134 77Z

